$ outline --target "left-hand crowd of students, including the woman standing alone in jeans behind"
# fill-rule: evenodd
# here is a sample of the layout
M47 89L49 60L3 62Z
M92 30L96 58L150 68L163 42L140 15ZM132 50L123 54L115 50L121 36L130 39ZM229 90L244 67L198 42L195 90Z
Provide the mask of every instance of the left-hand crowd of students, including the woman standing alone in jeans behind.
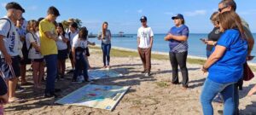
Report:
M55 20L60 15L58 9L51 6L45 18L25 21L25 13L19 3L6 5L7 15L0 19L0 104L21 102L15 91L23 89L18 85L33 84L35 89L42 88L46 66L44 97L57 97L55 81L65 77L67 56L73 66L73 83L89 82L88 30L80 27L74 20L69 21L67 30ZM102 40L103 68L110 68L111 32L108 22L102 24L98 35ZM26 81L26 65L32 64L33 83ZM1 106L0 106L1 107ZM2 109L1 109L2 110Z

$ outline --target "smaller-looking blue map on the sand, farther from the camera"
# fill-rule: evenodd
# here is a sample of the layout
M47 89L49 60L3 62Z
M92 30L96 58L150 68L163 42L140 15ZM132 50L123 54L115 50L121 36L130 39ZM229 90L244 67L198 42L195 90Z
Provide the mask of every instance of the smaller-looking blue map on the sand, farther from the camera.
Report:
M121 77L123 74L114 70L90 70L88 71L89 79L100 79L100 78L116 78Z

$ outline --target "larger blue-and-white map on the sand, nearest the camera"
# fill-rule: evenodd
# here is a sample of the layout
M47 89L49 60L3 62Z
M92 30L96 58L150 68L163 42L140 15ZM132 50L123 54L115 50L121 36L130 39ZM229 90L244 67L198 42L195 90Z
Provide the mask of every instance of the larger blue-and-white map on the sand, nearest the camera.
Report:
M90 106L113 111L130 87L87 84L55 103L62 105Z

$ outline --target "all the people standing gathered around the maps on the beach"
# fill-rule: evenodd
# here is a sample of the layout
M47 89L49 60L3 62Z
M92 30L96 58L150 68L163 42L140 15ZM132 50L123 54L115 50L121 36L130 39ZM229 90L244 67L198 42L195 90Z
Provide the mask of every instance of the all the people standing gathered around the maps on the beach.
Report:
M69 27L64 29L55 20L60 15L58 9L49 7L47 16L38 20L29 20L24 26L25 13L19 3L6 5L7 15L0 19L0 103L22 101L15 96L18 78L26 84L26 64L32 63L32 77L35 88L41 88L44 79L44 68L47 68L44 97L55 95L55 80L65 77L67 57L73 67L72 82L89 82L88 41L86 27L79 28L74 20L69 20ZM172 84L179 83L178 66L183 82L182 88L189 88L189 73L186 66L188 55L189 27L185 25L183 14L172 16L174 26L167 32L164 40L169 43L169 57L172 66ZM212 100L220 95L224 102L224 114L239 114L238 89L243 78L243 67L247 60L253 60L253 35L245 20L236 14L236 3L233 0L222 0L218 3L218 12L210 18L213 29L207 39L207 61L202 72L209 72L202 87L201 105L204 114L213 114ZM151 49L154 32L148 26L146 16L140 18L142 26L137 31L137 50L143 62L145 77L151 75ZM102 41L103 67L109 69L111 32L108 22L103 22L102 31L97 38ZM250 91L250 95L256 88Z

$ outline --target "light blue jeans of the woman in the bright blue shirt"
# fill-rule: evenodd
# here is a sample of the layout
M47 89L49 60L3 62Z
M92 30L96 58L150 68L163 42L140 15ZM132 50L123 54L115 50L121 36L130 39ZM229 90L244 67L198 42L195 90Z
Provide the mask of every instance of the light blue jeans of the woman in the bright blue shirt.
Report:
M235 112L234 83L215 83L207 78L201 92L201 106L204 115L213 115L212 100L220 93L224 98L224 115Z

